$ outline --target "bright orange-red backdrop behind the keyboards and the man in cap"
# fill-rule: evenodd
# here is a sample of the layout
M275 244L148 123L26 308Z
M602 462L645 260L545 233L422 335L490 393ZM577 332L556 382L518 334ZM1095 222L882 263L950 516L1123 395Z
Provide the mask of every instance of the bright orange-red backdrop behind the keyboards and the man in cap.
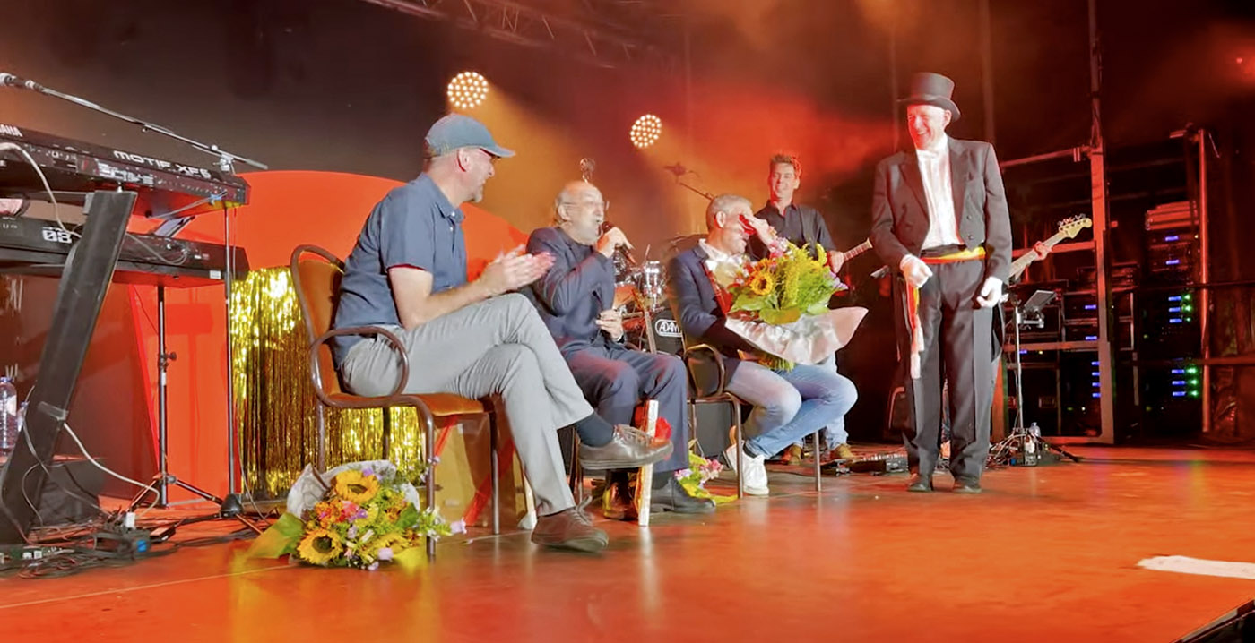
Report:
M243 174L250 204L235 211L233 242L254 268L286 266L299 244L314 243L348 256L371 207L400 182L331 172L257 172ZM466 213L468 271L477 276L497 253L527 236L505 219L471 204ZM223 217L203 214L181 237L222 243ZM132 317L154 315L156 291L131 287ZM142 307L142 310L141 310ZM222 287L167 291L167 350L178 355L168 370L169 469L188 483L227 490L226 305ZM156 355L156 330L136 323L143 355ZM153 442L157 440L157 365L144 358ZM190 498L173 490L174 500Z

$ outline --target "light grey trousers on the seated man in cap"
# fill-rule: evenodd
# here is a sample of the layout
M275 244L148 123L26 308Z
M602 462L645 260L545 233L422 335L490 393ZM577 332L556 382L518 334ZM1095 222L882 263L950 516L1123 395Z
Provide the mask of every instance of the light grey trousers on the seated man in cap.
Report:
M592 407L527 298L493 297L398 330L398 337L409 356L404 392L499 394L537 513L575 506L557 429L592 415ZM366 338L353 345L340 374L358 395L387 395L400 376L400 361L387 340Z

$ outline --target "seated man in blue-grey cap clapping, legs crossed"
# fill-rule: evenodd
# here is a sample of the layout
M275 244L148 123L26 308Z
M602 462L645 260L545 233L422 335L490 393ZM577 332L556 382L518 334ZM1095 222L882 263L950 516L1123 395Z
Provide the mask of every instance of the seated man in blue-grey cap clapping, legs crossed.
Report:
M606 534L575 505L557 429L574 425L584 439L581 457L605 468L656 463L671 445L594 414L536 310L511 293L543 276L552 258L516 248L467 281L459 206L483 198L497 159L513 154L473 118L437 120L427 133L423 173L389 192L366 218L345 261L333 327L382 326L399 336L409 360L402 392L499 394L536 493L532 541L597 552ZM378 396L397 386L400 360L385 337L343 335L333 352L348 390Z

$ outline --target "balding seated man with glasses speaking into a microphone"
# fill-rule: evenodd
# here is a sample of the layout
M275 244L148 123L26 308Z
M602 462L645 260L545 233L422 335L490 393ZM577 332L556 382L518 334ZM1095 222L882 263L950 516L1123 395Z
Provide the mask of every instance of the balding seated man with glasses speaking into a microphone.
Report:
M675 480L675 471L689 466L684 363L674 355L636 351L622 343L611 259L616 248L630 247L628 237L614 227L601 231L606 203L591 183L569 183L555 199L553 211L557 224L540 228L527 239L527 252L552 256L553 266L525 292L600 416L629 424L641 400L658 400L674 450L654 465L651 508L684 514L714 511L710 500L690 496ZM624 478L610 478L614 500L607 518L628 518Z

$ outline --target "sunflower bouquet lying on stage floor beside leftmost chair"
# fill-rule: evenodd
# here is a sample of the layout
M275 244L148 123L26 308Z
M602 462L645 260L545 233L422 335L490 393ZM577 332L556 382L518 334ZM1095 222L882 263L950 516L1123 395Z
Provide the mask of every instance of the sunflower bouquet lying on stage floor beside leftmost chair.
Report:
M466 525L418 509L414 481L420 476L387 461L353 463L325 475L306 468L289 494L287 513L257 536L250 554L369 570L387 562L422 564L424 539Z

